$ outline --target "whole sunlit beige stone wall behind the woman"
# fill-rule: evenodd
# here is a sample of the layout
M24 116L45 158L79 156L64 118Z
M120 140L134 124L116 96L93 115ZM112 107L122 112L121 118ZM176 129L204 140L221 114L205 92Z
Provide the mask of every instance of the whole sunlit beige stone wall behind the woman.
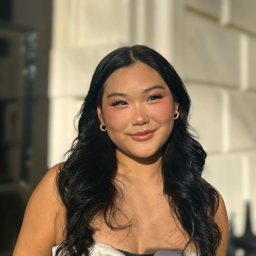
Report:
M246 200L256 216L255 10L254 0L55 0L48 166L75 137L73 119L98 62L117 47L148 45L185 82L190 123L208 153L204 177L241 234Z

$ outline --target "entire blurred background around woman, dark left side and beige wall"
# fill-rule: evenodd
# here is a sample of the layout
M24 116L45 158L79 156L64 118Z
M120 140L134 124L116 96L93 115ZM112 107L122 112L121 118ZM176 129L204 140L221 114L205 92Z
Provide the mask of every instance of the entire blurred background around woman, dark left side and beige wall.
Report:
M204 178L230 221L228 255L256 255L256 1L1 0L0 255L12 255L27 201L76 136L98 62L144 44L183 79Z

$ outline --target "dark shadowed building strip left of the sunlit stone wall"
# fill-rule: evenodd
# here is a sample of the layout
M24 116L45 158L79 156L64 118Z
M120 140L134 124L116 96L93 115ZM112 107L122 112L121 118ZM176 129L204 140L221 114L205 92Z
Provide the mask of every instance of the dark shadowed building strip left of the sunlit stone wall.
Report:
M0 256L47 171L52 0L0 0Z

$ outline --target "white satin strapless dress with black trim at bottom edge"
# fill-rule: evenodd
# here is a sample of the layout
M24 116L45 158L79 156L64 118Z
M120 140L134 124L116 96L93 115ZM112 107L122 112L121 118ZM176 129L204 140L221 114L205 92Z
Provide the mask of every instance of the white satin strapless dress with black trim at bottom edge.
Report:
M58 245L52 247L52 255L55 256L55 252L58 248ZM113 246L104 243L94 243L93 250L91 251L90 256L182 256L182 251L167 251L167 250L158 250L155 254L134 254L122 250L118 250ZM196 256L194 251L185 251L183 256Z

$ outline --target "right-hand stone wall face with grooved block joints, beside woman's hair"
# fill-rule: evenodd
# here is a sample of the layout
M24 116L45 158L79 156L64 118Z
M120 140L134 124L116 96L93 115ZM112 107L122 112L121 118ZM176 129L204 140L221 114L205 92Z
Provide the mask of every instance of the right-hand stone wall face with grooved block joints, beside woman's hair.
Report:
M234 232L250 200L256 231L255 1L185 1L184 82L190 124L208 153L204 177L223 196Z

